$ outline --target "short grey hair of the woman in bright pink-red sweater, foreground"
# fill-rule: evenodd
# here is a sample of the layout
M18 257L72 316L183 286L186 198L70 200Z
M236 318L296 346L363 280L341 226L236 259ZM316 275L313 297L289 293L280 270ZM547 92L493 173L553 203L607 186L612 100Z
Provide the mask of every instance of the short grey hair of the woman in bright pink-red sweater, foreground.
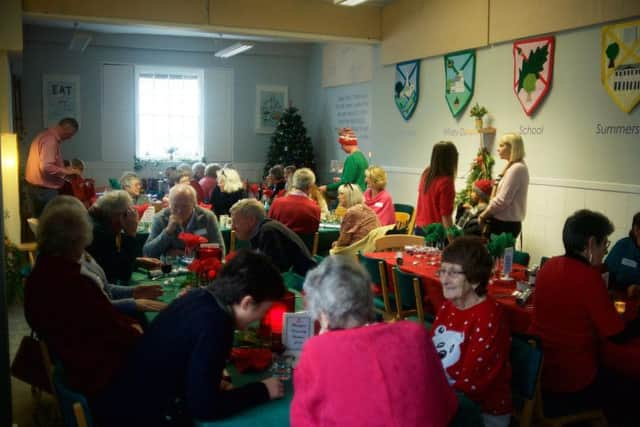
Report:
M330 256L307 274L304 292L311 315L324 313L329 329L362 326L373 319L373 293L367 271L353 258Z

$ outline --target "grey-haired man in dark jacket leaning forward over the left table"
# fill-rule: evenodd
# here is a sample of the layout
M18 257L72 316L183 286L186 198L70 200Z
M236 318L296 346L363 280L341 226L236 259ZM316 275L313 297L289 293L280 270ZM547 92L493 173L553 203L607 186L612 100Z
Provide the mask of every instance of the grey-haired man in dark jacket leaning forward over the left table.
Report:
M315 267L309 249L300 237L282 223L265 218L264 207L255 199L242 199L230 209L238 239L249 240L251 248L269 256L281 272L293 268L304 276Z

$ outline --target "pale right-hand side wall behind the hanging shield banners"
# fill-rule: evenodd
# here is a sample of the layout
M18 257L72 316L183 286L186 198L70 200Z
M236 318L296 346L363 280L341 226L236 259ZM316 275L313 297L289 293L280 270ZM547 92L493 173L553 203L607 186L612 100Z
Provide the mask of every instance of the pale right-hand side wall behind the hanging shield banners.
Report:
M513 93L512 44L477 51L471 103L478 101L488 108L498 137L510 131L524 135L531 175L524 250L536 263L541 255L562 252L562 225L575 210L605 213L616 226L614 239L628 232L633 213L640 211L640 135L597 134L599 124L640 126L640 107L631 114L623 113L600 83L600 28L556 34L552 89L532 118L526 116ZM314 57L318 54L314 50ZM376 66L374 80L364 88L358 85L372 97L371 146L363 151L372 150L374 162L389 172L394 200L415 204L418 178L429 162L433 144L451 140L460 152L456 185L461 189L479 137L460 135L461 128L473 128L468 108L459 119L447 108L443 58L422 61L420 100L409 122L402 119L393 102L394 79L394 66ZM312 98L324 97L329 102L335 93L349 93L354 87L324 90L313 93ZM330 103L326 108L322 114L314 114L321 122L319 133L329 135L335 112ZM344 158L335 138L329 136L323 161ZM494 175L503 167L498 159ZM328 170L327 163L320 164L320 170Z

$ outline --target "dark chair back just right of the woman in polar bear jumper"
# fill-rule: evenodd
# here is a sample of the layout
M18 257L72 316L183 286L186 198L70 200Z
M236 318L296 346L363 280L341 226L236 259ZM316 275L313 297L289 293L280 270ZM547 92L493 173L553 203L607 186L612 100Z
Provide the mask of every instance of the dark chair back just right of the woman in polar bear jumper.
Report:
M542 349L538 338L514 334L511 339L511 398L519 426L533 423L542 373Z

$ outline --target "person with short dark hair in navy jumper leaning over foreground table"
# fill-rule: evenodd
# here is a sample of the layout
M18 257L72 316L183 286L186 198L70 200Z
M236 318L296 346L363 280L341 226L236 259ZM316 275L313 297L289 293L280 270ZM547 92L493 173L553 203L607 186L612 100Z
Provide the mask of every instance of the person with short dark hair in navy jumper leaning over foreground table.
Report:
M261 319L284 293L282 276L266 256L239 251L210 286L178 298L151 323L94 400L100 425L190 426L282 397L277 378L230 390L221 388L221 379L234 329Z

